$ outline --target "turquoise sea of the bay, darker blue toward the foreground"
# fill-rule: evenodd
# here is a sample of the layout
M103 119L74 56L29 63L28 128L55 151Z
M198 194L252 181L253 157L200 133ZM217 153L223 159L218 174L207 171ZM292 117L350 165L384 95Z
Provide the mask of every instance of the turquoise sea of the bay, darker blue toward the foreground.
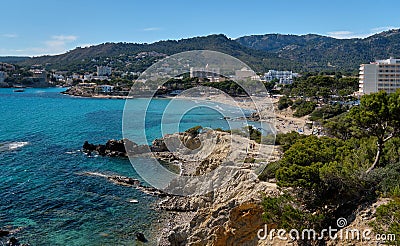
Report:
M135 245L137 231L154 240L150 231L160 216L153 209L157 198L80 175L90 171L140 179L128 159L88 158L80 151L86 140L122 138L125 101L75 98L62 90L0 89L0 228L30 245ZM167 104L158 99L151 105L150 141L161 137L156 119ZM227 127L208 108L192 110L180 121L180 129Z

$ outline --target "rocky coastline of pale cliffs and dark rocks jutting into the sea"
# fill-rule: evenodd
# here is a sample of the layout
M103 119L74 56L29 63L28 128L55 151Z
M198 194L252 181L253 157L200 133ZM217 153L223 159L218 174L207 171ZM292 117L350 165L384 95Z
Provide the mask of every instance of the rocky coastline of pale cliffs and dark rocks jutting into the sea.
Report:
M174 139L188 149L202 146L207 147L207 134L216 134L218 143L208 156L199 163L188 160L179 152L170 152L166 145ZM215 136L214 136L215 137ZM202 175L216 168L222 160L230 157L229 146L231 135L226 132L212 132L201 134L176 133L164 138L156 139L152 145L137 145L127 139L109 140L104 145L94 145L85 142L83 149L86 153L97 152L102 156L126 157L131 153L143 154L144 150L162 160L180 163L181 172L186 175ZM238 144L249 144L247 138L234 136L233 141ZM229 141L228 141L229 140ZM252 146L259 144L251 141ZM129 147L127 147L129 146ZM270 146L274 148L273 146ZM128 149L128 151L126 151ZM134 151L133 151L134 150ZM241 153L237 158L251 156L265 159L269 162L278 158L276 149L272 151L272 158L262 156L262 153ZM257 245L257 231L262 228L261 201L264 195L277 196L280 194L275 183L262 182L253 174L252 165L245 163L228 183L221 188L202 195L176 196L163 191L145 187L138 180L104 175L97 173L83 173L82 175L101 176L118 185L131 186L147 194L159 197L155 205L163 211L163 218L156 227L160 238L158 245Z

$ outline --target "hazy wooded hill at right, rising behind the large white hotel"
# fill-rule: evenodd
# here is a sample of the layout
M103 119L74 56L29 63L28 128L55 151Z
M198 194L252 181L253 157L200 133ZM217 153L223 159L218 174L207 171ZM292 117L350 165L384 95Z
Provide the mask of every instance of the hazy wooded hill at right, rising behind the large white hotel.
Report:
M335 39L315 34L266 34L238 38L248 48L267 51L308 70L354 71L361 63L400 57L400 31L390 30L364 39Z

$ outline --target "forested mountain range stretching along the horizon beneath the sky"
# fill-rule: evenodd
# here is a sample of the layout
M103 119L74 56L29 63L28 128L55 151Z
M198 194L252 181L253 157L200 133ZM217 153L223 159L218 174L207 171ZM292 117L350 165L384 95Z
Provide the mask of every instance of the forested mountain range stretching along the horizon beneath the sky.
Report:
M400 30L394 29L367 38L336 39L316 34L251 35L230 39L223 34L181 40L159 41L151 44L104 43L75 48L61 55L10 60L22 66L42 64L52 69L85 66L93 59L132 56L155 51L171 55L183 51L208 49L232 55L257 72L269 69L296 72L341 71L356 73L361 63L375 59L400 57Z

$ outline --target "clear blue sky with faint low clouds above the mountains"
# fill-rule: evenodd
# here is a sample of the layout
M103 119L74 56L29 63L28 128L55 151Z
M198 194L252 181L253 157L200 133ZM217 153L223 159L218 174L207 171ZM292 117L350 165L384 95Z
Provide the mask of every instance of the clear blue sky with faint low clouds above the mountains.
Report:
M364 38L400 27L398 0L12 0L0 4L0 56L61 54L105 42L209 34Z

